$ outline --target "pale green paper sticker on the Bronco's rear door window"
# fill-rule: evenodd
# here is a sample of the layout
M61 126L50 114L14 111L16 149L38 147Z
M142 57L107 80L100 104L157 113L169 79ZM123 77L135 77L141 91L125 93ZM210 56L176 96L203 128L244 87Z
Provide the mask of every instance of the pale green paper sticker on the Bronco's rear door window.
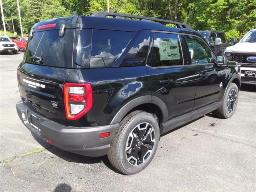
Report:
M156 38L158 42L160 60L179 60L180 50L177 39Z

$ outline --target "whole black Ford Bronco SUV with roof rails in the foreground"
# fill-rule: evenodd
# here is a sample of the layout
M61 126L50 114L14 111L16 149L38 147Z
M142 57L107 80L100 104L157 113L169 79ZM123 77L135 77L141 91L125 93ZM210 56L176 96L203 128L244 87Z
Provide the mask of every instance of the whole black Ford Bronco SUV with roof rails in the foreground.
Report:
M30 31L16 108L48 143L108 154L120 172L135 174L154 157L161 134L212 111L231 117L239 72L186 24L106 12L56 18Z

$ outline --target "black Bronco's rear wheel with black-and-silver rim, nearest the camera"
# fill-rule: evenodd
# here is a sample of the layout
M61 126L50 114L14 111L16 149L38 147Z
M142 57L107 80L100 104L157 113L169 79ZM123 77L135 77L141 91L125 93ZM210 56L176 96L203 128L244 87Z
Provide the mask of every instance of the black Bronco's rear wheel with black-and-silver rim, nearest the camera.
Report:
M148 112L136 110L118 126L108 159L123 174L142 171L153 159L160 138L157 120Z

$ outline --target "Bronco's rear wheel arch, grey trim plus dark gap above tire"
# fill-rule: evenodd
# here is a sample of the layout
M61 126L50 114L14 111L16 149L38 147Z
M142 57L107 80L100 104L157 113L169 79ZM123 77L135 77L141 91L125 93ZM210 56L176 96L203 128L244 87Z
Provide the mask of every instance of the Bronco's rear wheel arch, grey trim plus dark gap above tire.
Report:
M168 109L164 101L156 96L140 96L126 103L114 116L110 124L119 123L128 113L133 110L145 110L153 112L158 110L160 122L166 122L168 119Z

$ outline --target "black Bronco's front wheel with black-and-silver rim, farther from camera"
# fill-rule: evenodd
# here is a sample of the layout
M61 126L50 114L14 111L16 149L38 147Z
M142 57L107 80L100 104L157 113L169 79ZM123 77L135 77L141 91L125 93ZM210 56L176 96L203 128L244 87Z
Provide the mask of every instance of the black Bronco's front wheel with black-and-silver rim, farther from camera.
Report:
M227 91L222 100L220 108L218 108L215 113L220 118L230 118L235 110L238 103L238 87L235 83L230 83Z

